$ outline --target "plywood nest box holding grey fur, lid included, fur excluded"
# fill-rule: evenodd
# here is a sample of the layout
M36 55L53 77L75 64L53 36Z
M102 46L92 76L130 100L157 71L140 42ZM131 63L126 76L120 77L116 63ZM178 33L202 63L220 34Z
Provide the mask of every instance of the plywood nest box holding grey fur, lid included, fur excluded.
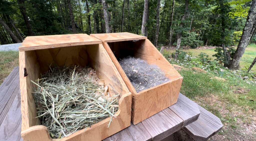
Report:
M177 102L183 77L147 37L127 32L91 34L91 36L102 41L104 48L132 93L131 121L134 125ZM157 65L170 81L137 93L118 62L119 59L127 56L146 60L150 65Z

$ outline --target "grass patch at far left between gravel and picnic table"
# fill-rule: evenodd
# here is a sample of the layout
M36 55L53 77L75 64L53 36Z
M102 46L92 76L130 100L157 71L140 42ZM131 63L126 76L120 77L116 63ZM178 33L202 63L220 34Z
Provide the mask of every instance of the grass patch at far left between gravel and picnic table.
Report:
M19 66L18 51L0 52L0 85L16 66Z

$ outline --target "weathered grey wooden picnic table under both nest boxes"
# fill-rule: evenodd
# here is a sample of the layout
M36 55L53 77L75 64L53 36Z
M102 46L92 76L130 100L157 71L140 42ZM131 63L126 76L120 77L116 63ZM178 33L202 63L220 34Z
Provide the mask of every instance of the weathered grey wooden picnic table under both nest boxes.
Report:
M0 140L22 141L21 120L19 68L15 67L0 86ZM176 104L104 141L166 140L180 129L196 140L207 140L222 126L218 117L179 94Z

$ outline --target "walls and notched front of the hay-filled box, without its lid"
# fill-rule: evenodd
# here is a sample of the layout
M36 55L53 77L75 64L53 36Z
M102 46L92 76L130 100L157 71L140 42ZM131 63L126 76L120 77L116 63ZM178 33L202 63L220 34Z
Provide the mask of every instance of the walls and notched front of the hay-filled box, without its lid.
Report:
M22 137L24 140L59 140L49 138L48 130L45 126L37 124L37 118L32 112L35 107L32 92L32 83L30 80L40 78L39 72L45 72L49 69L47 65L57 66L74 66L90 65L96 70L100 79L104 79L108 85L110 95L119 94L119 109L115 113L117 118L110 117L93 124L91 127L79 130L68 137L64 137L61 141L71 140L102 140L116 132L130 126L131 123L131 93L126 87L121 75L118 73L114 63L106 53L101 44L97 45L81 45L61 48L49 48L40 50L29 50L20 52L20 83L22 96ZM24 68L27 70L27 76L24 77Z

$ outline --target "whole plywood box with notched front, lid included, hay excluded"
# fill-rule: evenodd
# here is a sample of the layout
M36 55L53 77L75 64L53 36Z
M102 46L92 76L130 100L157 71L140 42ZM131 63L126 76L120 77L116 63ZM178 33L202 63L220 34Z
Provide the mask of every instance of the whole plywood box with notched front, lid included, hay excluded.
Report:
M130 126L132 95L99 39L87 34L31 36L26 37L19 51L21 135L24 141L102 140ZM110 117L67 137L50 137L47 127L37 118L31 93L35 86L30 80L40 78L40 73L48 71L51 63L59 67L90 65L98 77L104 79L110 95L119 94L119 109L109 128Z

